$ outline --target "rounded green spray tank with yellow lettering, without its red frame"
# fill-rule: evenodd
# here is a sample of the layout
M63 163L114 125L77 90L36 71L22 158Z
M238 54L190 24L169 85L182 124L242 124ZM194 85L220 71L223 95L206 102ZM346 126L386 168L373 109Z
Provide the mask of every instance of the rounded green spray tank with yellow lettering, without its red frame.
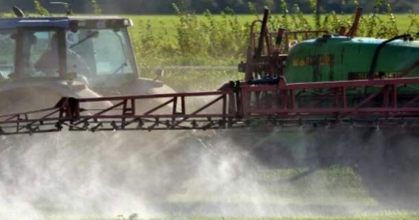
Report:
M294 45L286 59L287 83L400 78L419 59L419 41L325 35ZM414 69L409 76L419 76Z

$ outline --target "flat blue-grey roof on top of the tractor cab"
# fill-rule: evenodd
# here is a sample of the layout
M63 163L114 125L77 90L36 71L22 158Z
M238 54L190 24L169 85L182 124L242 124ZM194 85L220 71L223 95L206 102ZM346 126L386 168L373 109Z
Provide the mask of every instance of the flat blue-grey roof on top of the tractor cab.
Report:
M129 21L116 16L75 16L75 17L25 17L0 19L0 30L16 28L71 28L71 23L124 23ZM131 22L131 21L130 21ZM130 23L131 25L131 23ZM80 26L80 25L79 25Z

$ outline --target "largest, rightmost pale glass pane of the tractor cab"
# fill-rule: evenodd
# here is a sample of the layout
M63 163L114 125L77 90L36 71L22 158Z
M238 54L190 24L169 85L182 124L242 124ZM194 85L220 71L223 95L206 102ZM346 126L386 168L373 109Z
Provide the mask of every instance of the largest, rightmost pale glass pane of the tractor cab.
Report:
M87 78L117 74L136 74L135 61L128 32L121 30L67 31L67 50L81 56L89 68ZM71 56L67 57L67 72L71 69Z

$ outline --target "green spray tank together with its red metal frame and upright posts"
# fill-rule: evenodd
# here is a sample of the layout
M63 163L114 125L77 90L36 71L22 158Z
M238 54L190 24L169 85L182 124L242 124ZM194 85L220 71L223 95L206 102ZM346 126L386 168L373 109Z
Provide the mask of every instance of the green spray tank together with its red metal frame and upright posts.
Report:
M269 32L267 20L251 25L247 61L240 63L249 84L332 82L418 76L419 41L409 34L392 39L355 37L362 16L357 8L348 32L324 30ZM260 34L254 27L261 23ZM258 40L257 40L258 38ZM273 41L275 39L275 42Z

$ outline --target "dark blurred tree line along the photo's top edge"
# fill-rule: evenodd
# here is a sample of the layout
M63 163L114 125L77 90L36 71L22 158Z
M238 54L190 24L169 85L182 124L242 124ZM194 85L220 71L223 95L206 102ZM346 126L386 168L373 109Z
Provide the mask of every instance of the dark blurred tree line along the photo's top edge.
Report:
M38 0L50 12L63 12L62 6L49 4L52 0ZM87 0L63 0L73 4L75 12L85 13L97 10L92 1ZM176 3L183 10L202 13L205 10L217 13L229 8L236 13L249 13L249 3L252 3L257 10L268 6L274 12L280 11L280 5L286 1L288 5L297 3L302 12L313 12L313 3L316 0L93 0L100 6L104 13L125 13L125 14L172 14L174 9L172 3ZM409 12L419 10L417 0L319 0L321 10L335 12L352 12L354 4L362 5L367 11L372 11L374 5L381 3L383 10L385 5L392 3L394 12ZM8 12L13 5L18 5L25 11L35 10L33 1L28 0L0 0L0 11Z

